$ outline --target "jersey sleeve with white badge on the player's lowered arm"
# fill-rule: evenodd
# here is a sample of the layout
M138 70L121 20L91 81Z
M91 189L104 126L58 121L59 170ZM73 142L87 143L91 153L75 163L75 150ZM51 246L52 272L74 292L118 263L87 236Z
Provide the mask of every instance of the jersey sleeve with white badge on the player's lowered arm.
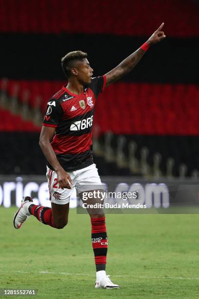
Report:
M57 128L63 109L58 100L51 99L47 104L43 126Z

